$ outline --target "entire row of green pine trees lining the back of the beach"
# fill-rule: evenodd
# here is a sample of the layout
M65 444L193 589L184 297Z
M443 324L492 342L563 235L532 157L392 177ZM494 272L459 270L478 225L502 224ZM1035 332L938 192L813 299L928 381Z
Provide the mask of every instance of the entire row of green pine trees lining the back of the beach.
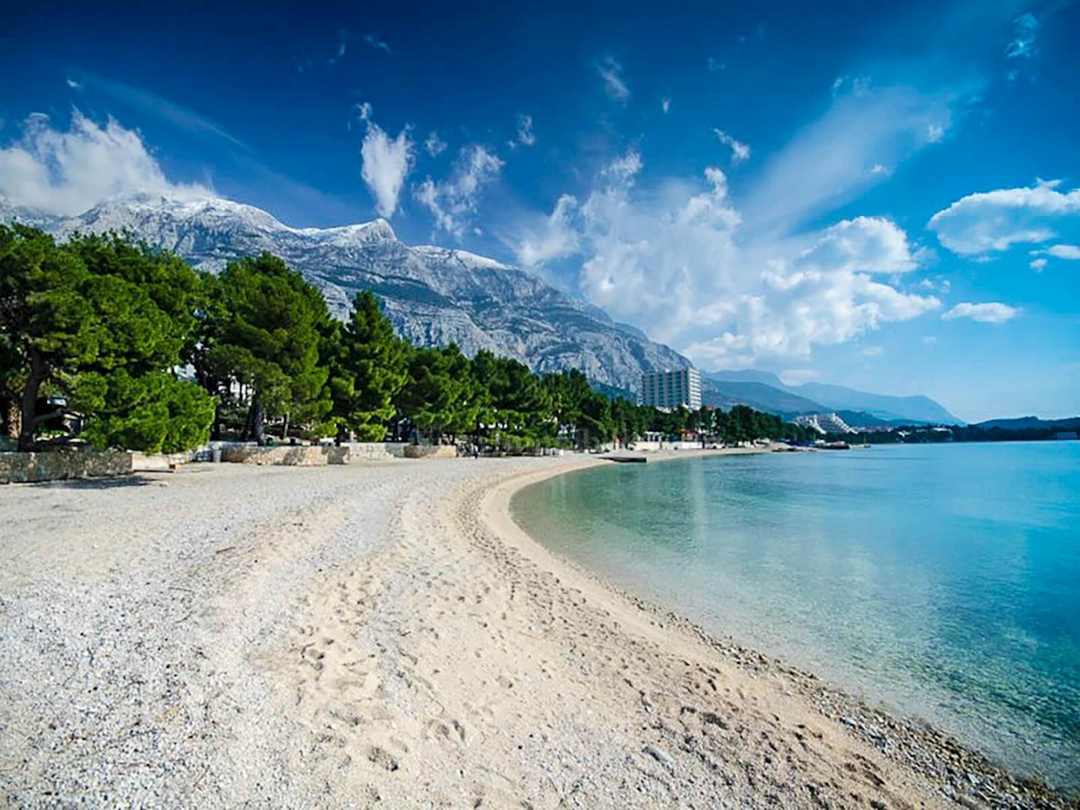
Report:
M72 415L80 415L75 419ZM538 375L457 346L415 348L361 293L345 323L264 254L200 273L117 235L57 244L0 226L0 418L22 450L67 443L178 451L211 436L590 447L647 431L799 437L744 406L665 414L609 400L578 370ZM83 421L84 420L84 423Z

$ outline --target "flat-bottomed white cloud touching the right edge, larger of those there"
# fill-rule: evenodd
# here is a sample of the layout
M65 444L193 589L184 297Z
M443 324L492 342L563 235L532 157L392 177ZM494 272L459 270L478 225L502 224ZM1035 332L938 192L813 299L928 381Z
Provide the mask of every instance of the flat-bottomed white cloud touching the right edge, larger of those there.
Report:
M1080 189L1058 191L1058 180L1030 188L968 194L930 218L928 228L961 256L1008 251L1065 237L1080 239Z

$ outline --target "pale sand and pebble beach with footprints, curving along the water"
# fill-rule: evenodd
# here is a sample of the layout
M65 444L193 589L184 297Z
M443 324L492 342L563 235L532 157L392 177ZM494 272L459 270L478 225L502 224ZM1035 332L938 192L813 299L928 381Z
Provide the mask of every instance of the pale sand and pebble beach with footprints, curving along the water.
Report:
M1068 806L513 523L518 488L595 463L203 464L0 488L0 799Z

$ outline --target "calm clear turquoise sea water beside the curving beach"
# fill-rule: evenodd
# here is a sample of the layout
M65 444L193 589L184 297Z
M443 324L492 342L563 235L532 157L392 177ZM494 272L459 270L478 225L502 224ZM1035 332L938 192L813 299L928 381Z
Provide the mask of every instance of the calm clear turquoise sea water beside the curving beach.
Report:
M1080 788L1080 442L611 464L513 511L631 591Z

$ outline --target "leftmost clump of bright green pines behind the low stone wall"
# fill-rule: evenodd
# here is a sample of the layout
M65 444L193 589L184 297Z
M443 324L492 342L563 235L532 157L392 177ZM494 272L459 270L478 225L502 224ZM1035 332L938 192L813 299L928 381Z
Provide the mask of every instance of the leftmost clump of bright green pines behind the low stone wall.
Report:
M35 229L0 226L0 375L9 397L19 391L19 449L33 449L39 428L56 417L39 413L46 393L82 411L98 444L126 436L130 449L179 449L204 433L208 397L162 378L191 339L200 289L177 257L117 235L57 245ZM165 391L168 404L149 407ZM135 410L138 430L105 428Z

